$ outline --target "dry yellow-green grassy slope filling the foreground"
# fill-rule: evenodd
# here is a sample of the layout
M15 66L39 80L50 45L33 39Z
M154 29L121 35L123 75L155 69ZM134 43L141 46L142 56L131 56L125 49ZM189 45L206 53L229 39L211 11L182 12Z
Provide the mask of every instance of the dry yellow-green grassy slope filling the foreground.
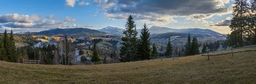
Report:
M237 49L256 49L245 48ZM227 51L210 54L225 53ZM0 61L0 84L253 84L256 51L104 65L29 65Z

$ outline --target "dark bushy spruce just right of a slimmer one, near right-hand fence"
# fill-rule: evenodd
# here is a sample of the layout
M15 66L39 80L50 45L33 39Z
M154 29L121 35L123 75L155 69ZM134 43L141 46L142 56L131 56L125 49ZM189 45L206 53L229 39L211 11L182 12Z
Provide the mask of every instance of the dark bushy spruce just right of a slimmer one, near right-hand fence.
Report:
M193 38L192 40L192 44L191 44L191 49L190 49L190 54L195 55L195 54L199 54L199 44L198 44L198 40L196 37Z

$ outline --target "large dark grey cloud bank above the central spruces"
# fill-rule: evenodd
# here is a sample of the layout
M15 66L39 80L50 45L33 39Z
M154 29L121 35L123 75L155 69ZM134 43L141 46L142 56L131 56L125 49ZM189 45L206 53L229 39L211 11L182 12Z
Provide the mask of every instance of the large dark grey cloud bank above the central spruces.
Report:
M230 0L94 0L110 19L123 19L133 15L136 20L171 23L172 17L203 20L214 15L230 14Z

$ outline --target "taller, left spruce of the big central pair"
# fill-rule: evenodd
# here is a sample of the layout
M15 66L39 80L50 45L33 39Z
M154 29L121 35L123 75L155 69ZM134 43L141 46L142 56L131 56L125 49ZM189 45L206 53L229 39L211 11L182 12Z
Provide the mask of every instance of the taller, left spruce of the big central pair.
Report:
M120 49L120 61L121 62L130 62L139 60L137 57L137 31L136 24L133 20L133 17L130 15L125 24L125 30L122 37L122 46Z

